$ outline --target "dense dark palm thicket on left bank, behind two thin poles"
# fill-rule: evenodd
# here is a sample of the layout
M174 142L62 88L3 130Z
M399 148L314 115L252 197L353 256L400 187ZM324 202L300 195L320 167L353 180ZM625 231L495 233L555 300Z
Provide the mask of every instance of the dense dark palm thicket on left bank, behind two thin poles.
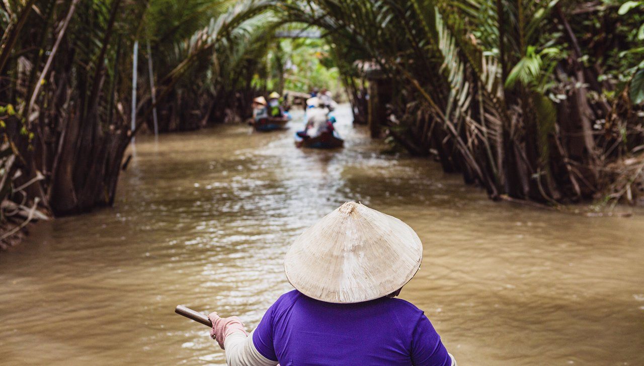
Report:
M3 151L15 158L3 167L2 198L33 202L37 197L56 214L110 205L131 137L151 125L148 61L161 131L196 128L248 109L273 5L270 0L3 3L1 132ZM138 87L132 111L135 42Z

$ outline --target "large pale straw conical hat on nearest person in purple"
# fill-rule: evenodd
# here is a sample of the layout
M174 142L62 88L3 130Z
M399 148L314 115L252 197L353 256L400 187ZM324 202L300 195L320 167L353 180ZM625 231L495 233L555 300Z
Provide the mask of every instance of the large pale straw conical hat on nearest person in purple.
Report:
M351 303L383 297L418 271L422 243L408 224L347 202L299 235L284 270L304 295Z

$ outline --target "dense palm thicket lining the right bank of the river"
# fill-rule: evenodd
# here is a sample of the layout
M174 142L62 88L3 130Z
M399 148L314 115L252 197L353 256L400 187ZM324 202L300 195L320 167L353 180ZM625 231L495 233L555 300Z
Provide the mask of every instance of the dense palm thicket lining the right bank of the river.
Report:
M491 197L593 197L623 173L613 163L642 149L640 1L283 7L290 19L327 30L342 70L368 61L392 81L393 140L436 154ZM636 174L609 199L630 192L641 173L625 170Z

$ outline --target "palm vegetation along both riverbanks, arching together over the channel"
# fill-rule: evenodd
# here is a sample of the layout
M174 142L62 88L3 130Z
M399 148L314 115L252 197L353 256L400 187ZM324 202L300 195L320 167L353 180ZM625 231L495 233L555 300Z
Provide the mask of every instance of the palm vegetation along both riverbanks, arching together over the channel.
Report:
M111 205L135 133L243 120L320 75L493 199L636 203L643 23L618 0L5 1L0 221ZM323 41L272 36L289 24Z

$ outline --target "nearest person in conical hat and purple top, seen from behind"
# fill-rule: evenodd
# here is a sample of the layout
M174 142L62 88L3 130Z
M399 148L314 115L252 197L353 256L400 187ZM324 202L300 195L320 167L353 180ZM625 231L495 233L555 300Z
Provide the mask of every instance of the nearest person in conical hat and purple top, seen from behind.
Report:
M410 226L345 203L290 246L284 270L295 289L251 334L236 316L212 313L211 336L231 366L455 366L423 311L395 298L421 261Z

